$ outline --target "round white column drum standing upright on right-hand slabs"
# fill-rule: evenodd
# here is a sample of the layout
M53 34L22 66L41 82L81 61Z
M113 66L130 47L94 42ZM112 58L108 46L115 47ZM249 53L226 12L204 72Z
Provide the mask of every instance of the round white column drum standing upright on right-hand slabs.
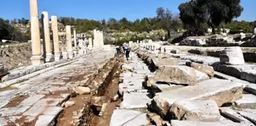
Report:
M223 65L244 65L245 59L242 49L239 46L226 47L219 55L220 62Z

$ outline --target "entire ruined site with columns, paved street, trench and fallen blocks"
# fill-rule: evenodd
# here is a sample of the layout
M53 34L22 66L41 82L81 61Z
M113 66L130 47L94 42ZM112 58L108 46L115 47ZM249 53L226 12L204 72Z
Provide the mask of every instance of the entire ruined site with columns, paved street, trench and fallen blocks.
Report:
M1 47L0 126L256 125L256 28L115 46L49 14Z

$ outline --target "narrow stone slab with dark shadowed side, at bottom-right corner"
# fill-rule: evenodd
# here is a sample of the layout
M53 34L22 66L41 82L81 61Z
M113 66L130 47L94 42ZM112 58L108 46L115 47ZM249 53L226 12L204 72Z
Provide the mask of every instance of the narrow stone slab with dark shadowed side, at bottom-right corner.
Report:
M219 108L219 112L223 117L229 118L230 120L232 120L234 122L240 123L240 122L246 121L246 122L248 122L248 124L251 123L251 121L248 121L246 118L242 117L242 115L239 115L237 112L235 112L234 110L232 110L229 107L221 107L221 108Z

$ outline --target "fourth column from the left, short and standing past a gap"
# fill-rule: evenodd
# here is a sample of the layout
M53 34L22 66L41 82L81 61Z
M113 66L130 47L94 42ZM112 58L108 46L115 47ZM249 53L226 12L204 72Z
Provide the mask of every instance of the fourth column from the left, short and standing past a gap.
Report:
M71 26L66 26L66 45L69 53L69 58L73 58L72 40L71 40Z

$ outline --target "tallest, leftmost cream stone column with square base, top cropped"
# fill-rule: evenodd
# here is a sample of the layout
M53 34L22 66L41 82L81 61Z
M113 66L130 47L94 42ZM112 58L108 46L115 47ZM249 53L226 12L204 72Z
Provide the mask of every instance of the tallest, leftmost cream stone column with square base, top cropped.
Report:
M43 56L41 55L37 0L30 0L30 28L32 45L32 57L30 60L32 65L40 65L43 64Z

